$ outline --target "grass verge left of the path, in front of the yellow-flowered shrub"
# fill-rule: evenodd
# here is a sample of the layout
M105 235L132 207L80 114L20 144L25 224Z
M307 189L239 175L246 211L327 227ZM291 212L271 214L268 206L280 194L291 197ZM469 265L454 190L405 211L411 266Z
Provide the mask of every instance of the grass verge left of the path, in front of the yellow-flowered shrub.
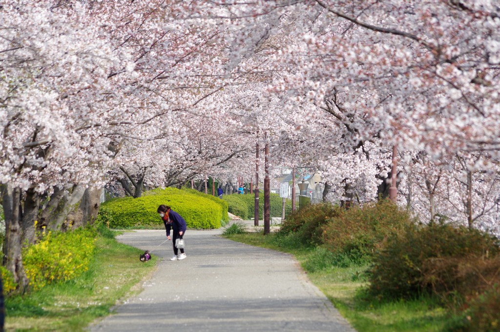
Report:
M120 299L155 269L156 257L140 262L142 251L99 236L89 270L74 280L5 299L6 331L84 331L107 316Z

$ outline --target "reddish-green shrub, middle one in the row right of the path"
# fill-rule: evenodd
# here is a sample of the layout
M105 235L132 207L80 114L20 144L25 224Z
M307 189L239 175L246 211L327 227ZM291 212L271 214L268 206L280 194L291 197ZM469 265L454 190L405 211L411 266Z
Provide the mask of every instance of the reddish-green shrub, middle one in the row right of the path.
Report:
M322 227L325 247L361 262L373 256L390 234L401 232L410 218L405 210L382 200L336 213L326 222Z

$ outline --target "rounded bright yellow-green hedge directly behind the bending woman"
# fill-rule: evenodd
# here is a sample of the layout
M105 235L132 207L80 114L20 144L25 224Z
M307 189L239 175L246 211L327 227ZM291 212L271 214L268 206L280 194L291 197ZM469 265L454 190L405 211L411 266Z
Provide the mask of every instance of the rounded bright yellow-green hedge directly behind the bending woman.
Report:
M162 225L156 212L160 204L168 205L180 214L191 229L220 228L227 220L223 216L225 205L209 195L166 188L147 191L139 198L125 197L104 202L97 221L111 228Z

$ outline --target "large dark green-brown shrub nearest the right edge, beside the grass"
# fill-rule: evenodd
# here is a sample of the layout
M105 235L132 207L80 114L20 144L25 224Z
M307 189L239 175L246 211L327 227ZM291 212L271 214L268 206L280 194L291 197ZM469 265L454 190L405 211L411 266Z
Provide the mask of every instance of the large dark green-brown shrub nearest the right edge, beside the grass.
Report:
M431 293L432 287L452 289L455 278L436 273L444 284L432 284L424 278L432 259L497 255L497 240L478 230L445 224L409 225L400 234L389 237L384 248L373 257L369 271L369 293L377 298L414 298ZM435 261L434 261L435 262Z

